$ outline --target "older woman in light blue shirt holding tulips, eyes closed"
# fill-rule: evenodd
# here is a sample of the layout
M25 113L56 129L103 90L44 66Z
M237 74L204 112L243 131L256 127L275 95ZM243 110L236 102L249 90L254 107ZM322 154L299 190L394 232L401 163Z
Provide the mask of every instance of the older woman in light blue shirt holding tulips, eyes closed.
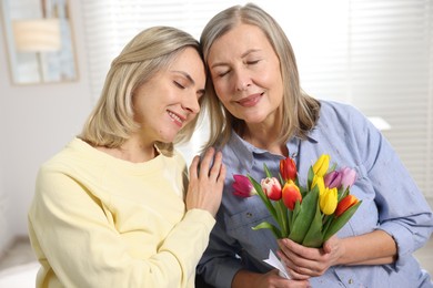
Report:
M433 287L413 251L433 229L432 209L386 138L356 109L305 94L283 30L254 4L231 7L205 25L201 44L210 71L208 146L219 145L229 175L278 175L294 158L300 181L322 154L354 167L351 194L362 204L322 248L274 239L251 227L271 216L259 197L232 193L231 177L199 265L215 287L292 287L263 263L278 253L294 280L313 287Z

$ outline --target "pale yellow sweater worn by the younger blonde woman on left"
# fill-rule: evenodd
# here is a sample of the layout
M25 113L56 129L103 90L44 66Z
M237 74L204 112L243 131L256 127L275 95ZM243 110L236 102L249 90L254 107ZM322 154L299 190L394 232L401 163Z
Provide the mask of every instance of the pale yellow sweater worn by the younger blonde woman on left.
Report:
M193 287L214 225L185 213L179 153L130 163L74 138L44 163L29 209L37 287Z

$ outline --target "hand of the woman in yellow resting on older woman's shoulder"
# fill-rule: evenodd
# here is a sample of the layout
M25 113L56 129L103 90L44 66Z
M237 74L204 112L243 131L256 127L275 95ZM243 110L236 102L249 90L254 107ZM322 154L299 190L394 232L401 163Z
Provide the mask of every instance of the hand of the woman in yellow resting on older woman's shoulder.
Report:
M192 160L190 183L187 193L187 209L204 209L215 217L220 208L224 187L225 166L221 152L209 148L200 162L200 156Z

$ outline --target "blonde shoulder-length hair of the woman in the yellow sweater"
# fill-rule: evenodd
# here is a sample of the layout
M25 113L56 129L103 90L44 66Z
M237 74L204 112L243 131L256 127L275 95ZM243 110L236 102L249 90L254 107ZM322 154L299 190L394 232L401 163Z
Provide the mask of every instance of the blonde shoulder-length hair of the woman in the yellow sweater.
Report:
M112 61L101 96L79 137L94 146L121 146L139 128L139 123L133 120L134 91L168 69L188 47L194 48L202 56L199 42L172 27L153 27L135 35ZM197 122L198 117L185 125L174 143L188 141ZM167 154L173 151L173 143L157 145Z

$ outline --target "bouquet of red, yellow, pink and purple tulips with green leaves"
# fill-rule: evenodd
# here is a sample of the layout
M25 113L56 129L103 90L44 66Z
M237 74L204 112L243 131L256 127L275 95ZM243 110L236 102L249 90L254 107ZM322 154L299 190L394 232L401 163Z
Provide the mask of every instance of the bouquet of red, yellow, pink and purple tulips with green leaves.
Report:
M356 212L362 200L350 194L356 173L344 167L330 167L330 156L323 154L309 168L303 187L298 179L296 165L291 157L280 161L280 175L256 182L250 175L233 175L234 195L258 194L275 219L278 227L262 222L252 229L270 229L276 238L290 238L306 247L319 248L340 230Z

